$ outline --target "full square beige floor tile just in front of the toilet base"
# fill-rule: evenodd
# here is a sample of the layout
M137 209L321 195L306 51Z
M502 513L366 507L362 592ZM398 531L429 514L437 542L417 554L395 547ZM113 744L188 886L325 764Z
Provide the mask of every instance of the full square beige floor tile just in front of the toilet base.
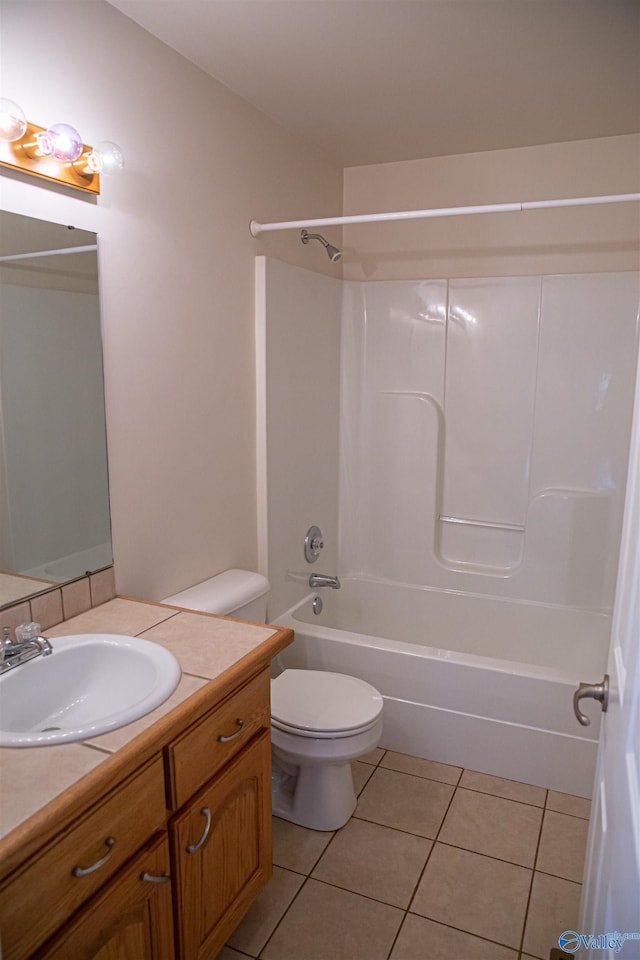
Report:
M350 820L312 876L395 907L409 906L432 843L367 820Z

